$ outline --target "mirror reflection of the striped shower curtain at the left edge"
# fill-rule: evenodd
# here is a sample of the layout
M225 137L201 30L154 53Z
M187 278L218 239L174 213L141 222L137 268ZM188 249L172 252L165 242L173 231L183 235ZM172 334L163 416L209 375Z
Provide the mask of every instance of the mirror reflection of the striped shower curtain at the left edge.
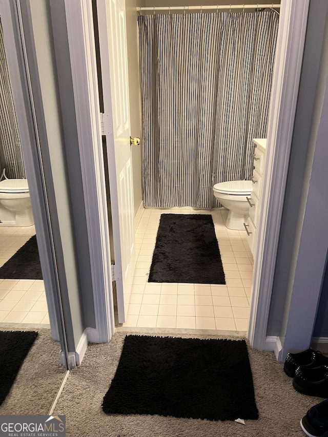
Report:
M0 23L0 176L3 169L10 179L26 177Z

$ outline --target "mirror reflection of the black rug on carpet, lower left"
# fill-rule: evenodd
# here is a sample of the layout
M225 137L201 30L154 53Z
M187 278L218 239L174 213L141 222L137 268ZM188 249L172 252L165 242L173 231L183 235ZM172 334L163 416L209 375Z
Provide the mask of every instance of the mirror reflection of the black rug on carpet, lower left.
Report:
M0 405L6 399L36 337L37 332L34 331L0 331Z

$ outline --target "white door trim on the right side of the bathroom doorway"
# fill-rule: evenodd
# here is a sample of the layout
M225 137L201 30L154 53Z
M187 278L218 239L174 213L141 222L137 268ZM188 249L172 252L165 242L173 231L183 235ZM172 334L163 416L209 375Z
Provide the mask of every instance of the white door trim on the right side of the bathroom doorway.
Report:
M308 12L309 0L281 1L248 328L251 346L260 350L268 347L267 326Z

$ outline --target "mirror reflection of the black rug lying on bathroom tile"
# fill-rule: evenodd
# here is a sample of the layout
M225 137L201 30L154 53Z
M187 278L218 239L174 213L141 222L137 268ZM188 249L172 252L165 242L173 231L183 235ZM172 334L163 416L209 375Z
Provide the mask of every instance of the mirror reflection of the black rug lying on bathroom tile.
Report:
M0 268L0 279L42 279L35 235Z

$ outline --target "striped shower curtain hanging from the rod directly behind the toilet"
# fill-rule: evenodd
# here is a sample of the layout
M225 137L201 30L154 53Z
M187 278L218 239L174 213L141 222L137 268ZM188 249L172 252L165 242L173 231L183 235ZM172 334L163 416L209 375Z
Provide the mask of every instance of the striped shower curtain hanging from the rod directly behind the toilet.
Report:
M219 206L217 182L249 179L267 135L278 15L138 17L146 207Z

